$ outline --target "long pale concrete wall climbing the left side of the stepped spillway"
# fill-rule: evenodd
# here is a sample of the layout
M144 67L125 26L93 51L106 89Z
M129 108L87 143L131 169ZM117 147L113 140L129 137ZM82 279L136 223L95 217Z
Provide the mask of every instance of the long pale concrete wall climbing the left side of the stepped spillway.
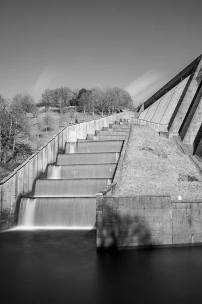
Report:
M46 173L48 164L54 164L58 153L63 153L65 142L76 142L85 139L87 134L95 130L109 127L121 118L130 118L133 112L121 112L115 115L67 126L60 130L47 144L16 168L8 177L0 182L0 229L9 229L17 220L20 199L32 193L36 179Z

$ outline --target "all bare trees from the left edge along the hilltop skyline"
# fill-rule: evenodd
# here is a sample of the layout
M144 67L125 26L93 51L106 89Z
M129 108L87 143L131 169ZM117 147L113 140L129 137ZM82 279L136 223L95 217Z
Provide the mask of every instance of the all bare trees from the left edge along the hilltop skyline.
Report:
M36 125L36 119L41 106L45 107L45 114L39 126L40 124ZM23 138L26 141L30 131L27 113L32 113L34 117L34 124L38 130L37 142L39 141L39 129L47 132L53 123L49 115L51 107L59 108L61 115L69 112L72 123L76 111L83 112L84 120L87 112L92 116L95 113L102 116L110 115L121 111L122 107L132 108L133 101L130 94L123 89L100 85L90 90L71 90L69 87L47 89L37 103L29 93L18 93L8 100L0 95L0 162L10 162L19 149L22 149ZM77 122L76 117L75 123Z

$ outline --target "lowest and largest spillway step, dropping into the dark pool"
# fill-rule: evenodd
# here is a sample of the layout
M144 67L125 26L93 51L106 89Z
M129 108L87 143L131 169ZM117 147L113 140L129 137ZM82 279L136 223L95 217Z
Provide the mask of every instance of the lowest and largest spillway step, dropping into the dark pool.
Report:
M34 226L94 226L96 222L96 197L44 197L22 198L20 202L18 225L30 225L27 210L34 210ZM30 218L29 218L30 219Z

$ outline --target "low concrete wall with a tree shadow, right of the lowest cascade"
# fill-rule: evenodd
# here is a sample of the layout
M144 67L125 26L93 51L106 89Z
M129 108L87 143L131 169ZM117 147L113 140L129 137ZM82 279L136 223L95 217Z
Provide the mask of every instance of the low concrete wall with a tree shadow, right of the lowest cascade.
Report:
M202 202L169 196L99 197L97 249L202 245Z

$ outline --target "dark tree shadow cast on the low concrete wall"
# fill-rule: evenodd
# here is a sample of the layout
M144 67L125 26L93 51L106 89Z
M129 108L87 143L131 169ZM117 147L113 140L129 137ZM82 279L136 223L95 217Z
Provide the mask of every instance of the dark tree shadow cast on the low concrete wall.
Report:
M116 208L116 207L115 207ZM119 213L119 214L118 214ZM97 251L117 253L124 249L154 248L144 218L131 216L130 210L113 210L105 206L104 215L97 222Z

